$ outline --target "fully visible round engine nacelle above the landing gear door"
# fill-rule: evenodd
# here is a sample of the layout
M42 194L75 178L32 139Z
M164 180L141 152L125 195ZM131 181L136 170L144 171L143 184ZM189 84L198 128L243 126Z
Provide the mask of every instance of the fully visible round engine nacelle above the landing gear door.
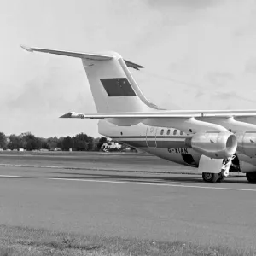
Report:
M224 159L236 153L236 136L230 131L198 132L190 140L191 148L210 158Z

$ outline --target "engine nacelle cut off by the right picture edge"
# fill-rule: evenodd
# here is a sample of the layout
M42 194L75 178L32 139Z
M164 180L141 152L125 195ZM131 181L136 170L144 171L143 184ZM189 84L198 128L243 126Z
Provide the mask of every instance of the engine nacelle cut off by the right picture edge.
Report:
M249 157L256 157L256 132L236 133L237 151Z

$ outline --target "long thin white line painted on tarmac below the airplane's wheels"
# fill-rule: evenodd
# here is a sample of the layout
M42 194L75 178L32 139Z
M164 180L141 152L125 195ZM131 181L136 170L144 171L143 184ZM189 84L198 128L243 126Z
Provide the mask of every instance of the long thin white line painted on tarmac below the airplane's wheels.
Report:
M204 187L204 186L166 184L166 183L122 182L122 181L95 180L95 179L77 179L77 178L63 178L63 177L48 177L47 179L50 179L50 180L81 181L81 182L91 182L91 183L125 183L125 184L134 184L134 185L180 187L180 188L192 188L192 189L219 189L219 190L236 190L236 191L253 191L253 192L256 192L256 189L236 189L236 188L223 188L223 187Z

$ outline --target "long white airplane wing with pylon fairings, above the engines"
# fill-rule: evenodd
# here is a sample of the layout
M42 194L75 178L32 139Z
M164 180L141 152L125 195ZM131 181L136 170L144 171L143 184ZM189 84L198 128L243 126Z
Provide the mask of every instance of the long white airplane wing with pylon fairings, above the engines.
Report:
M106 119L120 126L140 123L150 126L172 127L186 132L196 131L256 131L256 110L235 111L156 111L152 113L74 113L60 118ZM226 131L226 130L225 130Z

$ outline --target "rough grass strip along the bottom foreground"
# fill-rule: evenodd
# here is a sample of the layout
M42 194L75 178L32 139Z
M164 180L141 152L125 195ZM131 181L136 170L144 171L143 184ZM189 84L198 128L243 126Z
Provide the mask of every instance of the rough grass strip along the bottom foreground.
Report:
M209 247L183 241L148 241L81 236L23 227L0 226L0 256L32 255L256 255L230 247Z

